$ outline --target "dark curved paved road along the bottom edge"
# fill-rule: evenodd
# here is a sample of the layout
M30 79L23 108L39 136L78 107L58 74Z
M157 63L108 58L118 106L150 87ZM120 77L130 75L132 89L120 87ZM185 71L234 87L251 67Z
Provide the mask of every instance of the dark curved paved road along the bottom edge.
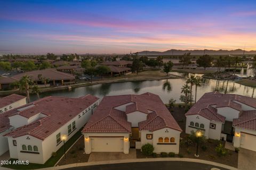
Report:
M187 161L154 161L142 163L122 163L122 164L107 164L107 165L93 165L66 168L66 170L211 170L215 166L193 163ZM221 170L228 170L226 168L216 167Z

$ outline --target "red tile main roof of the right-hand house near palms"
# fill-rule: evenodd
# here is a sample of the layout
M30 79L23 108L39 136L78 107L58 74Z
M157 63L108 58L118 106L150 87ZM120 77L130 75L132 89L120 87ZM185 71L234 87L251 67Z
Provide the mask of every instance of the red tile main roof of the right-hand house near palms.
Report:
M242 111L241 104L236 103L235 101L256 108L256 99L237 94L221 94L219 92L210 92L205 93L202 98L199 99L185 115L201 115L209 120L225 122L223 116L217 114L217 110L214 111L212 109L213 107L211 107L209 110L209 106L215 105L216 108L230 107L238 111Z

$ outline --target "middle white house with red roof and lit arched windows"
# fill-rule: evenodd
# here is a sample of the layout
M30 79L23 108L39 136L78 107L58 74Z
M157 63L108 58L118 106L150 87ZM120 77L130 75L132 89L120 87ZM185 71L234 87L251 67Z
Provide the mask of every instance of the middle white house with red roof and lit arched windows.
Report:
M154 152L179 153L181 128L158 95L105 96L85 125L85 153L123 152L153 144Z

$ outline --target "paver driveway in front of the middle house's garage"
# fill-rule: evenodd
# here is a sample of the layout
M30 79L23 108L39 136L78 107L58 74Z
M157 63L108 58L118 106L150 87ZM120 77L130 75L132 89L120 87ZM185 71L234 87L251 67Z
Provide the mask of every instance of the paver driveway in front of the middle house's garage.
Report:
M130 149L129 154L122 152L92 152L90 153L88 162L121 159L136 159L136 150Z

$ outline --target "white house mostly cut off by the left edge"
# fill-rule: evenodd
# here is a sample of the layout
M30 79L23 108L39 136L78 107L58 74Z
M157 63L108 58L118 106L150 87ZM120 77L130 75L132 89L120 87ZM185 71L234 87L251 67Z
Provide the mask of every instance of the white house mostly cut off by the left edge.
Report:
M12 94L0 98L0 156L8 150L8 141L3 135L10 132L12 129L11 126L6 126L6 112L24 104L26 104L26 97L23 95Z

